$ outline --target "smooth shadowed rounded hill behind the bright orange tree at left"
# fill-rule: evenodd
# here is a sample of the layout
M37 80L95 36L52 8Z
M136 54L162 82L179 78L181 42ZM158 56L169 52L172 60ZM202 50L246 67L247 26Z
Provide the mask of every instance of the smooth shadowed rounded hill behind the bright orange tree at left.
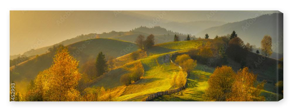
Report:
M120 57L137 50L135 43L105 38L84 40L66 47L68 47L70 54L79 61L80 66L89 60L94 60L99 52L103 52L105 57ZM30 80L34 79L40 71L52 65L54 54L55 52L48 52L16 67L10 67L10 80L13 79L14 82L23 83L18 85L23 85L23 90L20 91L25 91Z

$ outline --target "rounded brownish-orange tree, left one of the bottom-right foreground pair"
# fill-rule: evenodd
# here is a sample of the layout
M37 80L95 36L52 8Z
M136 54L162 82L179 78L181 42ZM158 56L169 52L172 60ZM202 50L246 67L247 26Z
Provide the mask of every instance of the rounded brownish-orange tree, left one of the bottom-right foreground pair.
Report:
M205 96L210 101L226 101L231 96L235 72L231 67L217 67L208 79Z

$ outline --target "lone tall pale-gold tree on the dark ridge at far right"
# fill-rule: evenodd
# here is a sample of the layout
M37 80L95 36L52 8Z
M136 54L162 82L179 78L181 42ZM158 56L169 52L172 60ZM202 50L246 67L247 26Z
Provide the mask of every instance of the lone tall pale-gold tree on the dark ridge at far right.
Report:
M265 35L261 40L261 51L265 58L272 55L272 38L269 35Z

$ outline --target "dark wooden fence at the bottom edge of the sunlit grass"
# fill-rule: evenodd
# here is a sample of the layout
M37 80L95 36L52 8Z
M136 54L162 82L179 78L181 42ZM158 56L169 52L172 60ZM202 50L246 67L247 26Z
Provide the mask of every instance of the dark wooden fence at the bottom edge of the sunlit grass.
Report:
M185 87L182 86L182 87L180 87L178 89L172 89L172 90L169 90L169 91L160 91L160 92L157 92L157 93L154 93L154 94L149 95L146 98L146 101L151 101L152 99L157 98L159 96L170 95L170 94L178 93L179 91L182 91L184 89L185 89Z

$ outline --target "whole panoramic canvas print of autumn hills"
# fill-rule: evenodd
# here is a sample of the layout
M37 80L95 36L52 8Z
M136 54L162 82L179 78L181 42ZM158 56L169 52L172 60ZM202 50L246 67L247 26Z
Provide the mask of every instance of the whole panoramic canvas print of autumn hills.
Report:
M280 101L283 13L10 11L9 70L10 101Z

